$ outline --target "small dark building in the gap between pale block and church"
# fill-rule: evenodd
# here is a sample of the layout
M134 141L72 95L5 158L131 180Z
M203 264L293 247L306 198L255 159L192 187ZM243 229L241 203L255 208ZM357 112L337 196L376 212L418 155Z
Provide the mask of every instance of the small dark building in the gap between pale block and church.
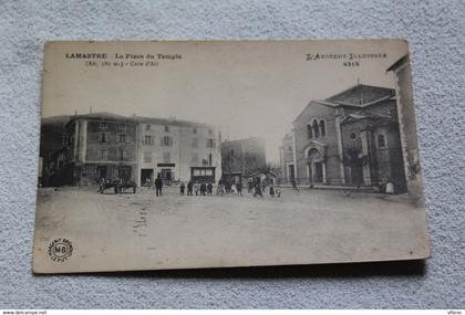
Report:
M223 178L227 182L244 181L267 165L265 139L251 137L221 143Z

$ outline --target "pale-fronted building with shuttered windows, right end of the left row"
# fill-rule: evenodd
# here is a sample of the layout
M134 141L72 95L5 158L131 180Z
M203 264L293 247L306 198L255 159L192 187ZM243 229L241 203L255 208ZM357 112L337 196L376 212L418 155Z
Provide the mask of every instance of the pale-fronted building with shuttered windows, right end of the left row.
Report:
M136 117L140 185L157 175L169 181L215 182L221 174L218 128L200 123Z

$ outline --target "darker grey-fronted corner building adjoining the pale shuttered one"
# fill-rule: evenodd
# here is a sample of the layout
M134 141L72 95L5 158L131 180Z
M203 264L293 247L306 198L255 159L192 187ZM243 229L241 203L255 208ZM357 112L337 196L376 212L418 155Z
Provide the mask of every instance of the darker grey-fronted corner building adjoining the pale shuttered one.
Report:
M102 177L136 180L137 123L110 113L71 116L65 126L63 177L85 186Z

